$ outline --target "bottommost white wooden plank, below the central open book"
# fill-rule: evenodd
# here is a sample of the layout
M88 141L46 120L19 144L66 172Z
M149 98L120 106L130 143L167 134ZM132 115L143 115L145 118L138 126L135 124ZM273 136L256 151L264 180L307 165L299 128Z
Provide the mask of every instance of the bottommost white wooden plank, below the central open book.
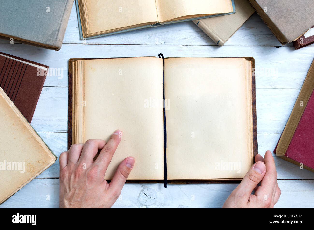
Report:
M314 206L314 180L277 180L281 196L275 208ZM237 184L126 184L113 208L220 208ZM36 192L34 192L36 191ZM58 208L59 179L34 179L1 208ZM49 197L49 200L47 200Z

